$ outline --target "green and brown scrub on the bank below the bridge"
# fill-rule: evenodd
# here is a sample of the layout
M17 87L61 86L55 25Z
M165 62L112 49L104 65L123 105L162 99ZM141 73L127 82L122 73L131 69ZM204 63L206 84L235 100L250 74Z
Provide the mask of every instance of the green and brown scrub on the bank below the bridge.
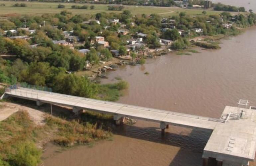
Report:
M42 149L36 143L53 141L58 145L69 147L76 144L93 144L99 139L110 139L111 133L97 127L94 119L87 121L84 117L107 119L111 116L86 113L81 121L66 121L47 115L43 126L36 125L29 114L18 111L8 119L0 122L0 165L2 166L37 166L41 163Z

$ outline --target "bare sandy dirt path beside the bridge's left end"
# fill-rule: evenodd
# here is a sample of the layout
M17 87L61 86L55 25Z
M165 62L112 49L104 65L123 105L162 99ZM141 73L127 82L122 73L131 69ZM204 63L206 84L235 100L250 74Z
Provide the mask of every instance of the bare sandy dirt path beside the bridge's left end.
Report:
M3 121L7 119L9 116L12 114L16 113L19 110L26 110L31 119L38 125L43 125L44 124L44 112L41 112L39 110L22 106L19 104L15 103L7 103L7 102L2 102L0 103L0 121Z

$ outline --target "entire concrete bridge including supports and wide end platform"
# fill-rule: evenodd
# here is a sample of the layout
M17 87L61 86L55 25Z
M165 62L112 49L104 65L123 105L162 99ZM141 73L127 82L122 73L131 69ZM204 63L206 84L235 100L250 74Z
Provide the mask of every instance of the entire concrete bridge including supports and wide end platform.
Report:
M209 162L217 166L248 166L254 161L256 150L256 110L226 106L220 119L181 114L152 108L106 102L28 88L7 88L1 99L8 96L73 108L112 114L116 123L124 117L157 122L162 134L171 125L212 130L203 151L203 166ZM248 102L240 104L247 106Z

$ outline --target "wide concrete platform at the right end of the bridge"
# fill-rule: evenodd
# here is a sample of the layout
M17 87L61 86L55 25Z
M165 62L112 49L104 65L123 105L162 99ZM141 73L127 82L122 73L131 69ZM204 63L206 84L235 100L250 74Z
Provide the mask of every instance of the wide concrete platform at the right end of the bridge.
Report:
M241 111L245 113L239 117ZM256 110L226 106L222 119L226 123L216 124L205 148L203 158L215 158L223 165L241 166L254 161L256 143ZM238 117L237 117L238 116Z

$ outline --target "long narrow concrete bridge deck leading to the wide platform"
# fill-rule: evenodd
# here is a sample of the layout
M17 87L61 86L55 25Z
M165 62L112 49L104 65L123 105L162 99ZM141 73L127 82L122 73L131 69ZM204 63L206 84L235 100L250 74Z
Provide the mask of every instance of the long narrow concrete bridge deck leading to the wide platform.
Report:
M5 94L17 98L40 101L43 103L52 103L68 107L90 109L134 119L142 119L153 122L165 122L166 124L174 124L179 126L213 130L216 124L223 123L223 120L220 119L81 98L27 88L9 89Z

